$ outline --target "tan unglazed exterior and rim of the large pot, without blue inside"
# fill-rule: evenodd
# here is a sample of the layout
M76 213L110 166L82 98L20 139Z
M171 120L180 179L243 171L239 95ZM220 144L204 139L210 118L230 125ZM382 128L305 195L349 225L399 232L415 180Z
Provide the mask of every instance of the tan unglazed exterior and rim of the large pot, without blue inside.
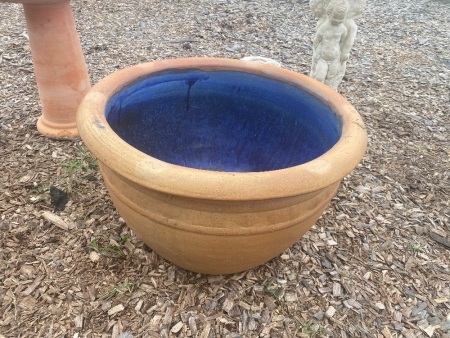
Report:
M281 170L220 172L158 160L123 141L105 115L115 93L167 69L233 70L289 83L342 119L342 135L325 154ZM158 61L112 74L87 94L77 121L126 223L167 260L206 274L256 267L298 241L361 160L367 137L353 107L319 82L274 66L209 58Z

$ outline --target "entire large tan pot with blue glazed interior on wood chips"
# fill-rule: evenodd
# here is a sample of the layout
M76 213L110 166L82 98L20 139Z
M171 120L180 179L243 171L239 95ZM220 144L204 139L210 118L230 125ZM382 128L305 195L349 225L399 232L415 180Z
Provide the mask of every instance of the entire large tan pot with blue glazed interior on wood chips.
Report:
M77 115L111 198L158 254L228 274L295 243L361 160L361 117L338 93L274 66L193 58L95 85Z

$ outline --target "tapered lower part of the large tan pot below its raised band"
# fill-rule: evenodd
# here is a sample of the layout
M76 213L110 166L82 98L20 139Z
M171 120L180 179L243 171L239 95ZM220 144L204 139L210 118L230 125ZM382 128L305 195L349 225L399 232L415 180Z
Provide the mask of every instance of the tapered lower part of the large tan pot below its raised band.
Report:
M214 235L176 228L168 232L167 224L140 214L111 189L108 191L119 214L152 250L181 268L211 275L242 272L277 257L314 225L334 196L333 192L323 207L301 223L294 223L271 234Z

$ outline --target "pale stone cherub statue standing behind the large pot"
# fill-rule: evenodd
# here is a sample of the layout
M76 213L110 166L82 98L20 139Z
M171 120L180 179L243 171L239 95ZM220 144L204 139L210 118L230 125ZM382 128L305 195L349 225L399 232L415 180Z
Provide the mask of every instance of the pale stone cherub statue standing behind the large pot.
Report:
M355 41L355 19L364 11L366 0L310 0L309 4L319 19L311 77L336 90Z

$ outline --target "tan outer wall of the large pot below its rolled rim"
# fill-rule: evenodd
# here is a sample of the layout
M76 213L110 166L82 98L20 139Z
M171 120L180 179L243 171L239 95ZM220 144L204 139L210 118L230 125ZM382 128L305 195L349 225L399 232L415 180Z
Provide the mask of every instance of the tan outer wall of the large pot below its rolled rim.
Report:
M147 189L100 166L133 231L172 263L206 274L240 272L276 257L314 225L339 186L270 200L217 201Z

